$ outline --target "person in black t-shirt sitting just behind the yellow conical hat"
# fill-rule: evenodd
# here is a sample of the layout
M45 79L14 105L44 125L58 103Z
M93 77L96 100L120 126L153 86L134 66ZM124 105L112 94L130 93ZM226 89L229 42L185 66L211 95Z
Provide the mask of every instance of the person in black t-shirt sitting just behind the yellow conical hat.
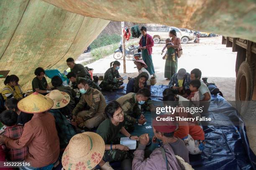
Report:
M38 92L42 95L50 93L51 88L47 84L46 78L44 77L44 69L42 67L38 67L34 73L36 77L32 80L33 92Z

